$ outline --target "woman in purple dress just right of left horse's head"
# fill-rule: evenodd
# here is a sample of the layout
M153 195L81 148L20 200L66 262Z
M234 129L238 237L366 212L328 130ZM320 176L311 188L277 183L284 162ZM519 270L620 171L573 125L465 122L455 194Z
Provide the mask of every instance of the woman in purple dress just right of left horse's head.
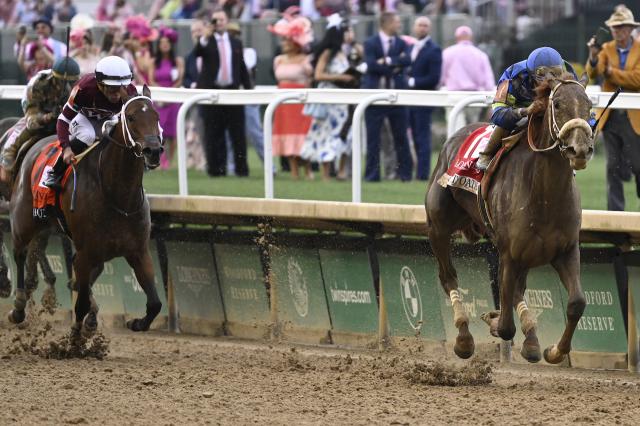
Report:
M176 57L175 44L177 41L178 33L175 30L171 28L160 30L158 46L149 72L149 83L152 86L182 87L184 60L181 57ZM160 157L160 167L166 170L171 165L175 152L176 119L180 105L158 103L156 105L158 114L160 114L160 127L163 129L165 148Z

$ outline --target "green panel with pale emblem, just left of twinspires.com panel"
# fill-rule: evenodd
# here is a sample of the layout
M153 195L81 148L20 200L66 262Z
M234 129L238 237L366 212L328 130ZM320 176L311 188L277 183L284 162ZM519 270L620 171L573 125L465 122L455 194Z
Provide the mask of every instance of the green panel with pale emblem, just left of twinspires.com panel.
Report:
M296 328L330 330L318 251L279 247L270 257L278 321Z

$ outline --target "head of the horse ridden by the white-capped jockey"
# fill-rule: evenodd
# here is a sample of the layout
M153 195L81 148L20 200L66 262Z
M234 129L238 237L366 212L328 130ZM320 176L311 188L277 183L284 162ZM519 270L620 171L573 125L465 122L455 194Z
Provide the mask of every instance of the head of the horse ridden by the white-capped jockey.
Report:
M158 119L151 91L146 84L142 88L142 95L127 99L122 107L120 122L126 145L133 149L137 157L144 157L148 169L160 165L160 154L164 151Z

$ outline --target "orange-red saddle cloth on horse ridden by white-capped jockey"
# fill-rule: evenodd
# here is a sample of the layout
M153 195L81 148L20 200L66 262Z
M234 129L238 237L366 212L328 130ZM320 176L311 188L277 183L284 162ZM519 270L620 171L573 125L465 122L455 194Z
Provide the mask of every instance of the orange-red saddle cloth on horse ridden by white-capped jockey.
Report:
M45 219L47 211L56 207L56 191L44 185L49 176L49 170L53 168L62 155L62 147L59 141L51 142L44 147L38 158L36 158L31 170L31 192L33 194L33 217ZM62 185L69 179L71 168L67 168Z

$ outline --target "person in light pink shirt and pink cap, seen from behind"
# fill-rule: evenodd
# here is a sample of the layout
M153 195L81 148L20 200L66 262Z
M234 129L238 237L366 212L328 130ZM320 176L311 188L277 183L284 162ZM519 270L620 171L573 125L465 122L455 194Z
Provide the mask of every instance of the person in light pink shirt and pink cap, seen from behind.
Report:
M443 90L494 90L496 79L491 69L489 57L473 45L471 28L463 25L455 32L456 44L442 51L442 77L440 85ZM476 122L478 110L467 108L466 121ZM460 115L459 117L462 117ZM456 123L462 127L465 120Z

